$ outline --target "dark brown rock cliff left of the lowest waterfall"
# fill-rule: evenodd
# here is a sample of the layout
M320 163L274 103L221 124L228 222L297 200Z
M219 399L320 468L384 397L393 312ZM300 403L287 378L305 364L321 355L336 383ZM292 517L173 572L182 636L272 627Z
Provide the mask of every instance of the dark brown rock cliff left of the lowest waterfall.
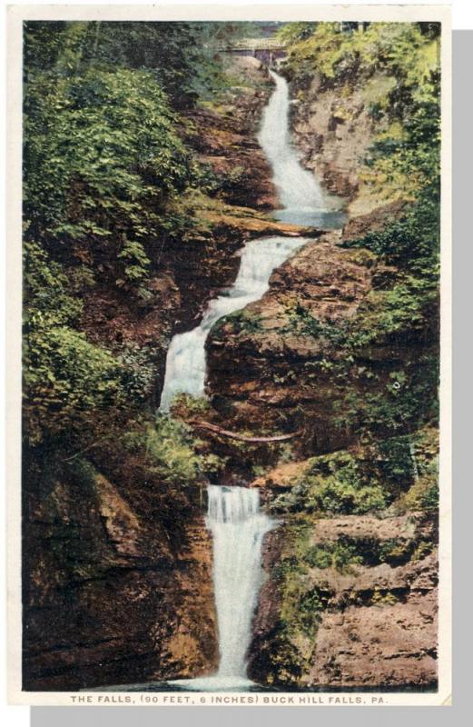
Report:
M192 503L153 480L83 470L30 480L25 498L25 688L212 672L212 543L197 493Z

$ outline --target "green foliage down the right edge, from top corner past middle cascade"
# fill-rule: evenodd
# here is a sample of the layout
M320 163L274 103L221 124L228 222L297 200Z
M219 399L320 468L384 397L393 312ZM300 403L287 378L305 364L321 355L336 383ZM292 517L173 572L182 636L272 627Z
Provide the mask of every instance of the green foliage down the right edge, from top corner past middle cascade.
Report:
M332 325L297 305L290 327L322 344L312 375L330 378L341 428L371 441L412 432L438 416L439 27L319 23L281 33L302 93L318 74L322 88L339 92L343 118L344 99L363 96L374 129L382 122L363 180L378 198L409 200L399 220L342 243L368 254L374 272L357 313ZM398 370L381 372L379 361L396 355Z

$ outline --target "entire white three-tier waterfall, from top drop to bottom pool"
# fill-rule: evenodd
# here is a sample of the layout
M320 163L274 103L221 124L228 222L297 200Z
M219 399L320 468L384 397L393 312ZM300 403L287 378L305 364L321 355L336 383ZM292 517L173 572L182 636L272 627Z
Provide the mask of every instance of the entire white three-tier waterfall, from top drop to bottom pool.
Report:
M274 183L284 209L280 219L295 224L340 226L340 213L330 213L330 200L310 172L302 169L291 145L290 98L286 81L271 72L276 83L261 124L259 140L271 162ZM332 215L330 217L330 214ZM335 214L335 216L333 216ZM324 216L325 215L325 216ZM272 271L308 242L303 237L265 237L244 245L240 270L231 288L212 300L202 323L172 338L164 378L161 411L167 412L176 393L202 395L205 383L205 340L222 316L241 310L268 290ZM211 677L173 682L190 690L251 689L246 657L251 620L261 587L261 543L275 526L260 508L257 489L209 485L207 527L213 539L213 583L219 630L220 664Z

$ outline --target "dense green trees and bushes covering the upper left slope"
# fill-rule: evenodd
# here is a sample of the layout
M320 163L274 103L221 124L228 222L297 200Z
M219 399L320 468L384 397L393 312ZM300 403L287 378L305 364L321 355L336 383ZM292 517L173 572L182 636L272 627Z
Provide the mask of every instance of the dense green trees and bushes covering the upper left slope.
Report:
M72 438L76 448L105 420L113 429L149 401L156 352L87 340L82 299L100 281L146 300L164 241L195 233L182 199L198 170L170 98L188 105L221 73L202 38L238 32L225 24L25 25L30 443L65 447Z

